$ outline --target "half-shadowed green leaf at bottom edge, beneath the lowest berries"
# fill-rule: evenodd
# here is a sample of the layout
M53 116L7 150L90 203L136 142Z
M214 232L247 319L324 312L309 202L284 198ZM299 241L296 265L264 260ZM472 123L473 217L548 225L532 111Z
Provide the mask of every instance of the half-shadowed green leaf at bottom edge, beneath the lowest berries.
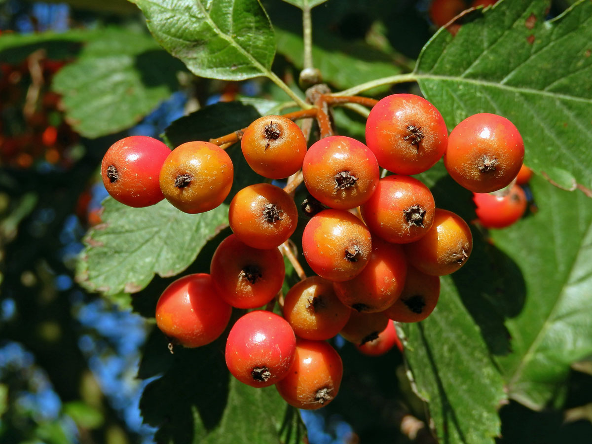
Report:
M235 313L237 314L237 313ZM289 407L275 387L253 388L230 376L224 362L226 335L198 349L166 349L155 329L145 362L163 363L162 377L150 382L140 400L144 422L159 427L156 442L300 444L305 431L298 411ZM153 358L150 355L155 355ZM155 359L157 357L157 359Z

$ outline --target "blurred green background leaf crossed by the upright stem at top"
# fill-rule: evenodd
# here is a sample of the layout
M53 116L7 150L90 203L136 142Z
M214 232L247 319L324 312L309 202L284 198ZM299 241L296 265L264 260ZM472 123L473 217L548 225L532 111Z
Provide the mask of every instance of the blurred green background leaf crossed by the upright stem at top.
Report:
M298 69L302 69L302 37L279 28L276 28L275 34L278 52ZM336 88L346 89L401 72L390 57L363 41L346 42L323 31L314 33L314 41L317 42L313 44L314 66L323 73L323 81Z

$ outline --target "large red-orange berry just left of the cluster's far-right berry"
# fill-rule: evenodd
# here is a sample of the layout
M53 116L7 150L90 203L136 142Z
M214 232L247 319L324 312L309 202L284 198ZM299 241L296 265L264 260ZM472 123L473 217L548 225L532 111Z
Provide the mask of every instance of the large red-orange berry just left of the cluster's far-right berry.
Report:
M393 94L381 99L366 121L366 144L378 164L398 174L417 174L440 160L448 143L442 114L423 97Z

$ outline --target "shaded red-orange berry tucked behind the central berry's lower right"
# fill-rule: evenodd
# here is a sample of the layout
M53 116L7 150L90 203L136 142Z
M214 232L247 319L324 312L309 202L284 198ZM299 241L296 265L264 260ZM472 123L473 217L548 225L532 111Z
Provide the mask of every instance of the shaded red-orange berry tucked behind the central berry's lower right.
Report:
M354 310L372 313L386 310L401 294L407 275L407 258L403 247L372 239L372 253L362 272L333 287L343 304Z

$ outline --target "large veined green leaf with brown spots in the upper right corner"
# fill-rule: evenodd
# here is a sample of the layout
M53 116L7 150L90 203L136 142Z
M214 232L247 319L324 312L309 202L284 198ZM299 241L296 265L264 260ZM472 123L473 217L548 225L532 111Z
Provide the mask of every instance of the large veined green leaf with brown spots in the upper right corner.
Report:
M441 29L417 62L424 95L449 128L477 112L509 118L526 163L565 184L592 188L592 2L545 21L546 0L503 0Z

